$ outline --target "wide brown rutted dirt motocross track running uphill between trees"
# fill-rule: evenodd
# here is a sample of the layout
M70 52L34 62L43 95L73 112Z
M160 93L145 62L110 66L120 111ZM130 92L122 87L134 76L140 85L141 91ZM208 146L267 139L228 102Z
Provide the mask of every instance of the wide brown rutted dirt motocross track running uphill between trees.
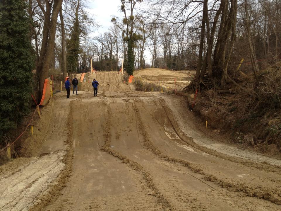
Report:
M86 82L43 109L40 156L0 167L0 210L281 210L280 160L206 137L178 96L87 77L97 97Z

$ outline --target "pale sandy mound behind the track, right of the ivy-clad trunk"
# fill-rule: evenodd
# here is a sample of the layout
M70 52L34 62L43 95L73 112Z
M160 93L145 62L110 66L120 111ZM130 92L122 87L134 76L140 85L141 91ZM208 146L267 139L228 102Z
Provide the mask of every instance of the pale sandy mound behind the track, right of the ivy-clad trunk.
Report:
M171 71L167 69L148 68L134 72L134 76L142 78L145 83L160 84L163 88L181 90L194 77L195 71Z

